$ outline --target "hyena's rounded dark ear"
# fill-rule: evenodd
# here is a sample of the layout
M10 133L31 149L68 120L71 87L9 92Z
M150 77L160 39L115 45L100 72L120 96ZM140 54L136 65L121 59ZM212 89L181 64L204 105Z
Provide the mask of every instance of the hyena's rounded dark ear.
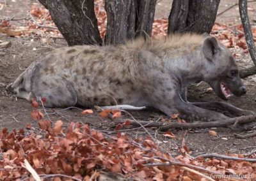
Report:
M220 51L220 45L216 38L209 36L204 40L202 51L207 59L212 60L214 56Z

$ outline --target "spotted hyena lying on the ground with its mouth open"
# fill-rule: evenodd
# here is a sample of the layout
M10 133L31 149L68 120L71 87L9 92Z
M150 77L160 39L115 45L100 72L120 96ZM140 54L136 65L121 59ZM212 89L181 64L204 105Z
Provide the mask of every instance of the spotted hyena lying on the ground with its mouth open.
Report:
M198 34L138 39L116 47L58 48L33 62L12 85L18 98L46 98L47 107L127 104L167 115L223 120L252 114L225 102L189 103L186 90L204 81L224 100L246 93L234 57L216 38Z

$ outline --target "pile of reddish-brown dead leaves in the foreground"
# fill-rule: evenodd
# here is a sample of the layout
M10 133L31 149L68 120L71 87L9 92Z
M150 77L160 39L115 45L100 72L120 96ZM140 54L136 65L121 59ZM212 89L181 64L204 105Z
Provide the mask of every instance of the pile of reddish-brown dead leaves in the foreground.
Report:
M256 163L195 159L186 147L173 158L161 151L150 135L132 140L125 133L109 136L87 124L71 122L64 127L61 120L45 119L35 100L32 105L31 116L40 127L38 134L26 134L22 129L10 133L3 129L0 133L1 180L93 180L106 172L136 180L256 178ZM92 111L82 113L86 116Z

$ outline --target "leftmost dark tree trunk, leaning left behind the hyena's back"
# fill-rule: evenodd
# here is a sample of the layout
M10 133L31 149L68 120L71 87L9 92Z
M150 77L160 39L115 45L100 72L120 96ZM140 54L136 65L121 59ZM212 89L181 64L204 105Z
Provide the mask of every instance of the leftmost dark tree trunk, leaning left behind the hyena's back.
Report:
M93 0L39 0L69 46L102 45Z

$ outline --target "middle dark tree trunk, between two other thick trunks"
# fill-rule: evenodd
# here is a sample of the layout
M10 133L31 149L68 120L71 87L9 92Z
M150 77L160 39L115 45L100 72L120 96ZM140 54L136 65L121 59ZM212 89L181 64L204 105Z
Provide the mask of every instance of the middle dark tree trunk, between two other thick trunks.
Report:
M125 43L138 36L151 36L156 0L106 0L106 44Z

